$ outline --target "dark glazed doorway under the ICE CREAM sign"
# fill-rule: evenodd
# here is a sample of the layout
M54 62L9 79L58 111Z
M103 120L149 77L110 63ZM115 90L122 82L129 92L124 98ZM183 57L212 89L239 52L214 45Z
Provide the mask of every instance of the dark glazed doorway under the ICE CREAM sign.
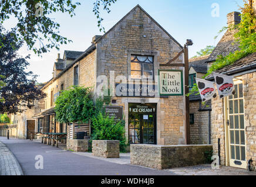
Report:
M130 144L156 144L156 104L129 103Z

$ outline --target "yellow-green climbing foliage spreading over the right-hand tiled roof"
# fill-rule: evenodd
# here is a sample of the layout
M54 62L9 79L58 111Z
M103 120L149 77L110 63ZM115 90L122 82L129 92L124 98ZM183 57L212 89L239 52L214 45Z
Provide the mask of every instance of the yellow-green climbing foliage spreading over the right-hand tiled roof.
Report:
M218 56L203 78L207 77L216 70L220 70L227 65L235 63L235 61L240 60L249 54L256 53L256 18L250 4L248 4L246 1L244 2L244 7L240 8L242 10L241 23L230 27L223 27L223 29L220 30L220 32L223 32L226 29L235 30L235 42L239 43L240 50L230 53L225 57L222 55ZM190 90L190 93L188 93L186 96L190 96L191 94L198 94L197 85L194 85L194 87Z

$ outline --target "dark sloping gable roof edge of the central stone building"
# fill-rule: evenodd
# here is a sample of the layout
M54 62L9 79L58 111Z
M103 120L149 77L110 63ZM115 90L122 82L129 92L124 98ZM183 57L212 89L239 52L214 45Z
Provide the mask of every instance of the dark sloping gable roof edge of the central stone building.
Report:
M122 22L123 19L127 18L127 16L130 15L130 13L132 13L136 8L139 8L142 10L143 13L145 13L151 20L153 20L154 23L156 23L157 26L159 26L181 49L183 49L183 46L181 46L180 43L178 43L177 40L175 40L171 34L169 34L161 25L159 25L159 23L156 22L156 20L154 20L149 13L147 13L146 11L144 11L144 9L140 6L140 5L136 5L132 11L128 12L122 19L119 20L119 22L116 23L116 25L114 25L111 29L109 29L102 37L100 37L98 40L96 40L96 43L98 41L100 41L101 39L103 39L103 37L105 37L109 32L111 32L117 25L119 25L119 23Z

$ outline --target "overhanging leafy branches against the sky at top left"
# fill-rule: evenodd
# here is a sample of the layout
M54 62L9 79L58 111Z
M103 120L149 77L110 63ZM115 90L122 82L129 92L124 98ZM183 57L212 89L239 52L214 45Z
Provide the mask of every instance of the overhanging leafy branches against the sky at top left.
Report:
M103 5L103 10L110 12L109 6L116 0L96 0L93 12L98 19L100 31L102 18L99 8ZM0 2L1 23L9 22L14 16L17 24L12 28L12 36L15 41L10 43L15 46L17 41L25 41L28 48L37 54L46 53L53 47L59 50L60 44L66 44L71 40L59 34L59 23L50 18L55 12L68 13L71 17L75 15L76 7L80 2L76 0L2 0ZM14 22L14 20L11 20Z

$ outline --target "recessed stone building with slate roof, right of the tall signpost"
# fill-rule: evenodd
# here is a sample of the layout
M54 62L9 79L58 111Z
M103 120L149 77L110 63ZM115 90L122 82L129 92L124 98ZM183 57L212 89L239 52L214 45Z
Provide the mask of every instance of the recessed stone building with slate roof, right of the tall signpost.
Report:
M195 78L207 73L207 59L210 55L189 60L189 86L196 84ZM190 140L191 144L211 144L211 102L202 104L200 95L190 95Z

